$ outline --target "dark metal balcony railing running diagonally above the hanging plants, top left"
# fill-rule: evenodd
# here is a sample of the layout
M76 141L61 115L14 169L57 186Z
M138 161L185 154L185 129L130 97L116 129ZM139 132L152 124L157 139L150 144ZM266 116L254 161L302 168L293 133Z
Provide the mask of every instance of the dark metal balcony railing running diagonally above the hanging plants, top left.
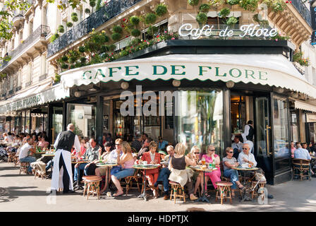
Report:
M100 25L107 22L111 18L118 16L123 11L126 11L131 6L134 6L141 0L111 0L106 6L102 6L95 13L91 13L88 18L75 25L71 30L68 30L65 34L61 35L57 40L48 44L47 57L59 52L69 44L79 40L87 33L91 32L93 28L97 28Z

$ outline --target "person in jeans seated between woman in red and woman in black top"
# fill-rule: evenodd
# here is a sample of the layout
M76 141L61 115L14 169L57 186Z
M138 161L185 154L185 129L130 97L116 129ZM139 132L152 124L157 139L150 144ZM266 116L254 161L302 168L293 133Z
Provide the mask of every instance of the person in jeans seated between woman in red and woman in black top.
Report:
M158 186L158 182L162 182L164 184L164 200L169 199L170 170L168 168L168 165L169 165L170 158L174 156L174 147L169 145L168 147L166 147L166 151L168 152L168 155L164 157L164 162L166 162L166 165L162 165L162 169L159 172L157 182L154 183L154 187Z

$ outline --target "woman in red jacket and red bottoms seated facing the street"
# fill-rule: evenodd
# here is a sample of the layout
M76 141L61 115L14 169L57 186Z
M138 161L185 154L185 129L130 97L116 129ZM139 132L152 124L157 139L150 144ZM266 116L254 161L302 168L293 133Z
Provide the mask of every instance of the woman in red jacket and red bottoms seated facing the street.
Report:
M150 142L150 151L145 152L142 154L142 161L147 161L148 164L160 164L160 154L157 153L158 145L156 142ZM154 186L154 183L157 182L159 176L159 168L157 169L148 169L146 170L146 178L148 180L148 184L153 191L154 198L158 198L158 191L157 188Z

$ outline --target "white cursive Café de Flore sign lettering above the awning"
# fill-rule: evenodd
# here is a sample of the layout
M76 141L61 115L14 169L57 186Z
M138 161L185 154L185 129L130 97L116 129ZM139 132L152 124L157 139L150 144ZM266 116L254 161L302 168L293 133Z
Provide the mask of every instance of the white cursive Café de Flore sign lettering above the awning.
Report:
M204 25L203 28L193 28L192 24L186 23L181 25L178 30L178 33L182 37L191 36L193 40L198 39L202 35L207 37L212 36L212 29L214 25ZM219 32L219 37L232 37L234 32L242 32L239 37L274 37L278 34L278 30L275 28L267 29L267 28L260 28L260 25L254 25L253 23L250 25L242 25L240 30L229 30L229 26L227 26L224 30Z

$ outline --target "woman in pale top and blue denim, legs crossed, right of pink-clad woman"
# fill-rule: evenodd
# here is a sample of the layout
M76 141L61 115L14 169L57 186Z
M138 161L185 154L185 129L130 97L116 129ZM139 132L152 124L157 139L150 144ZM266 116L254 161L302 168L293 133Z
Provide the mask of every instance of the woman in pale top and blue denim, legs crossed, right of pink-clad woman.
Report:
M223 167L224 167L224 177L231 178L231 196L235 196L236 184L238 189L244 190L245 187L241 182L238 181L238 172L236 169L231 169L231 167L238 167L239 163L236 158L233 157L233 148L226 148L226 157L223 158Z

